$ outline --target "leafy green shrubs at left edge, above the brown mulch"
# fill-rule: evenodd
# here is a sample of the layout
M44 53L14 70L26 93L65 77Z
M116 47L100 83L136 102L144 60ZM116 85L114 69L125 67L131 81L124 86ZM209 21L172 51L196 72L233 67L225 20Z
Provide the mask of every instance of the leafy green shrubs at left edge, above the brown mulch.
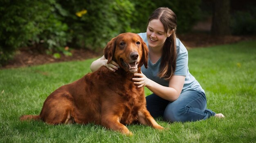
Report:
M52 50L64 46L67 26L55 14L54 0L3 0L0 2L0 66L16 49L45 44Z

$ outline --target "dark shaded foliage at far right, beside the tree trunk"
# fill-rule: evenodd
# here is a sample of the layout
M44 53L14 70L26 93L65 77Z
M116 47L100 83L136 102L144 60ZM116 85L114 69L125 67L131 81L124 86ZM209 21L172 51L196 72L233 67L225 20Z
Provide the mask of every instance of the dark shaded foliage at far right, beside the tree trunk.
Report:
M234 35L256 35L256 8L231 15L231 31Z

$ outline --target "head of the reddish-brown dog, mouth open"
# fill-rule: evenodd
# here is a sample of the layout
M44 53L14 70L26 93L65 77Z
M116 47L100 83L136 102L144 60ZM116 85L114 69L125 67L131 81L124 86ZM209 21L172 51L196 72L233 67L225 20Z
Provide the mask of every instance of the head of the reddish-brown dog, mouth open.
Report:
M143 64L148 67L148 48L141 37L135 33L122 33L111 39L104 48L108 63L113 60L122 69L135 73Z

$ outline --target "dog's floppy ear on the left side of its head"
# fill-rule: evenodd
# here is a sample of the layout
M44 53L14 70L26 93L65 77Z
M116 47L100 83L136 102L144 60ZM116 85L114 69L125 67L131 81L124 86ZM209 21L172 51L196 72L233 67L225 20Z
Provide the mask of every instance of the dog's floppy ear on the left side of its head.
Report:
M116 47L116 37L112 38L106 45L106 47L104 48L104 56L105 58L108 60L107 63L110 63L110 61L112 60L114 54L115 54L115 47Z

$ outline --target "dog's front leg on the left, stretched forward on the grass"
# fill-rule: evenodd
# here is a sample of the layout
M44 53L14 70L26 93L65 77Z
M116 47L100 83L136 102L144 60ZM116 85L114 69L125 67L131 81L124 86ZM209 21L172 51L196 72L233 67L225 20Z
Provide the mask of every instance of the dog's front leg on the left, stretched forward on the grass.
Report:
M119 117L117 117L115 115L102 116L101 125L108 129L112 129L112 130L121 132L122 134L132 136L132 132L130 132L126 126L121 124Z

